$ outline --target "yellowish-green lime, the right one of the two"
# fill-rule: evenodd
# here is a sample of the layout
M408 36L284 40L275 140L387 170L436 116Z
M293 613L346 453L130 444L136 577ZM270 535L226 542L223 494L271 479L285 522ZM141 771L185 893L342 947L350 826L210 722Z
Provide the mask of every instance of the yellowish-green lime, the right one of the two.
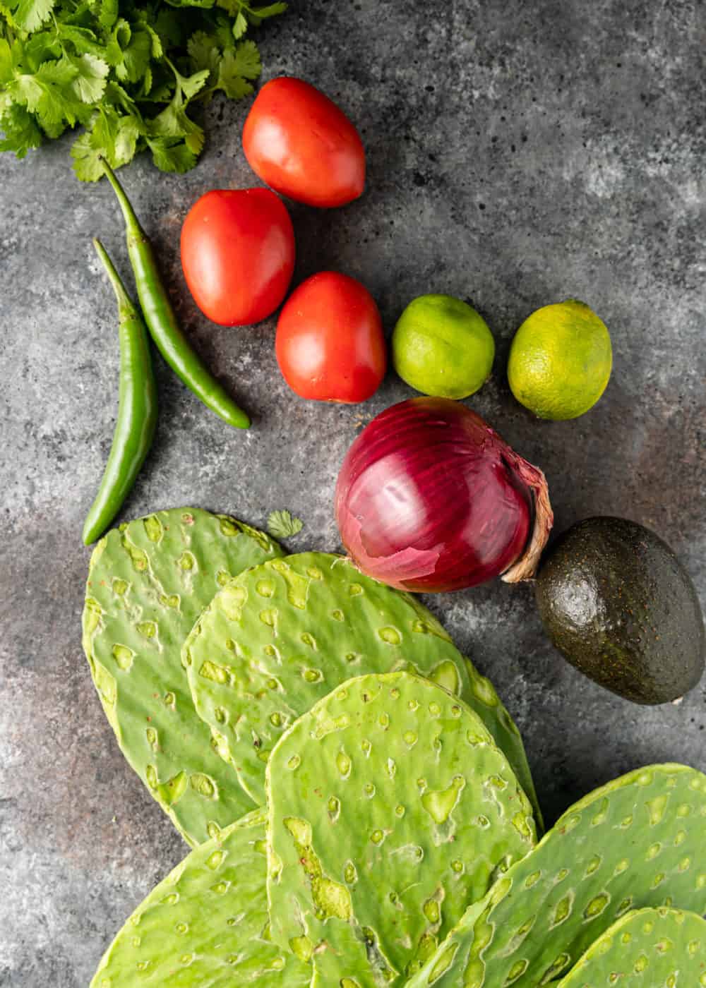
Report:
M568 298L525 319L510 347L507 379L520 404L540 419L575 419L601 396L612 365L605 324Z

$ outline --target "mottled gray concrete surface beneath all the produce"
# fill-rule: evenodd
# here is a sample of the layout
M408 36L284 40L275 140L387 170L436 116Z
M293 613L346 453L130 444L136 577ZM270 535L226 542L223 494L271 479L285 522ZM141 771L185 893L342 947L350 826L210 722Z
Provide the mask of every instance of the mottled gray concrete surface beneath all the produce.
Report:
M470 404L546 470L557 528L618 514L660 533L706 595L706 19L695 0L393 0L295 4L262 38L264 77L302 75L360 126L369 184L334 212L293 206L297 280L360 278L391 329L414 295L473 302L497 341ZM187 208L253 184L247 104L214 105L201 164L123 172L184 324L250 409L225 429L159 368L160 423L125 518L196 504L262 525L306 521L293 547L335 549L338 464L362 421L410 391L395 375L365 406L307 404L286 387L274 320L221 329L178 261ZM118 751L81 653L81 526L117 402L114 303L92 255L124 272L113 194L79 184L69 139L0 156L0 985L85 986L133 906L185 846ZM609 326L615 369L568 423L512 399L522 319L577 296ZM430 601L523 732L551 820L592 786L654 761L706 769L703 685L644 708L582 679L542 634L528 587Z

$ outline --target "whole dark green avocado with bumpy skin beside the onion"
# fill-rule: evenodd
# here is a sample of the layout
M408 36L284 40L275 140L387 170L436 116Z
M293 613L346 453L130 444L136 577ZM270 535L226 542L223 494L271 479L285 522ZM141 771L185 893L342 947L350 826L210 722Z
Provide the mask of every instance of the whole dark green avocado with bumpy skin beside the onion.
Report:
M683 697L704 670L704 621L691 579L658 535L622 518L588 518L552 547L537 606L560 652L635 703Z

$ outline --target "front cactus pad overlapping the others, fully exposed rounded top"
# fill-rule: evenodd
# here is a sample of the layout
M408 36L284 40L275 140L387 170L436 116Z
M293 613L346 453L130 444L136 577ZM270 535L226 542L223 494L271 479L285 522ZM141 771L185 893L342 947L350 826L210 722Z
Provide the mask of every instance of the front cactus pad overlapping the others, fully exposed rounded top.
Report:
M402 983L535 844L480 717L407 672L349 680L300 717L267 802L272 937L306 945L321 985Z

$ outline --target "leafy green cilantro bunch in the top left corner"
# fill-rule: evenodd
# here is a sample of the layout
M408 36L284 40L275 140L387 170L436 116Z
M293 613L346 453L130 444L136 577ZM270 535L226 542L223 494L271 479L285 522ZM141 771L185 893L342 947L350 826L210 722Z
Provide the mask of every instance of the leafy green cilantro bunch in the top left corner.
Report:
M0 150L23 158L67 127L79 179L95 182L147 149L157 168L196 164L204 131L190 115L222 92L240 99L260 74L249 26L287 5L244 0L0 0Z

